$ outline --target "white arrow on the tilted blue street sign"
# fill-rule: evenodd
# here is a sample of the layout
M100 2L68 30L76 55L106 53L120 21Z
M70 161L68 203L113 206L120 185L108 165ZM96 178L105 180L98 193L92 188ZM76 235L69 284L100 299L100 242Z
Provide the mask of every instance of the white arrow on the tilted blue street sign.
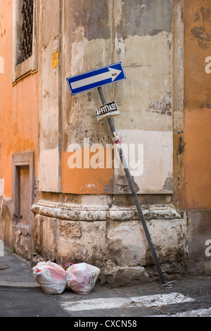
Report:
M94 84L96 82L101 82L101 80L109 80L112 79L112 82L116 79L118 75L122 73L121 70L117 70L114 68L108 68L106 73L100 73L95 76L91 76L88 78L84 78L84 80L78 80L77 82L72 82L70 85L72 89L78 89L79 87L84 87L86 85Z

